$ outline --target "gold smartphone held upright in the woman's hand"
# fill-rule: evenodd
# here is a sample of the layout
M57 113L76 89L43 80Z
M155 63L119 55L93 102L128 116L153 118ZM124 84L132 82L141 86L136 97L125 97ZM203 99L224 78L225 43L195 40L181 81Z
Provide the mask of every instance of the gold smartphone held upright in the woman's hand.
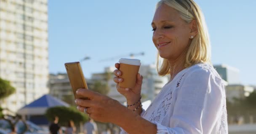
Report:
M80 62L65 63L65 67L75 98L88 99L76 94L77 89L88 89Z

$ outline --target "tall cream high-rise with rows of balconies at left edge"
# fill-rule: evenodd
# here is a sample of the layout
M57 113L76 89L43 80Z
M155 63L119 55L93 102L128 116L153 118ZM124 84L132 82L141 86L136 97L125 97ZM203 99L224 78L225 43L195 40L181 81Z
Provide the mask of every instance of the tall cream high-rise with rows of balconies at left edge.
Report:
M49 92L47 0L0 0L0 77L16 93L0 102L19 108Z

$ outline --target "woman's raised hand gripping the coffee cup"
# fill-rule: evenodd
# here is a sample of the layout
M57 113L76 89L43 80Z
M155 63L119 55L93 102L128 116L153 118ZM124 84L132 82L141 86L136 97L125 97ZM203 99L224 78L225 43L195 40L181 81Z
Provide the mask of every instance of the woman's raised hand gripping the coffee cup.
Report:
M125 96L128 103L130 103L130 104L136 103L136 101L139 100L140 95L141 95L141 85L142 85L143 77L139 73L137 74L136 84L133 89L121 88L118 85L118 83L123 82L123 78L120 77L122 75L122 72L119 70L120 64L116 63L115 67L117 68L117 70L114 71L114 74L116 76L116 77L114 77L114 81L117 83L117 85L116 85L117 91L120 94Z

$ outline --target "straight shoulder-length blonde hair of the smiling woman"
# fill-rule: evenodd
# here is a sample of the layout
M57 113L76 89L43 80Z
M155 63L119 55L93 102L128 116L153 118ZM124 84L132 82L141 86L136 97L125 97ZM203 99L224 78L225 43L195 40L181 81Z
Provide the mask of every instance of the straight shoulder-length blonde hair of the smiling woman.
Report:
M176 9L185 22L190 23L195 20L197 23L198 32L187 49L184 67L187 68L200 62L211 64L211 44L200 7L193 0L161 0L157 3L156 9L163 3ZM168 60L161 58L159 53L157 53L156 66L159 75L170 74L171 67Z

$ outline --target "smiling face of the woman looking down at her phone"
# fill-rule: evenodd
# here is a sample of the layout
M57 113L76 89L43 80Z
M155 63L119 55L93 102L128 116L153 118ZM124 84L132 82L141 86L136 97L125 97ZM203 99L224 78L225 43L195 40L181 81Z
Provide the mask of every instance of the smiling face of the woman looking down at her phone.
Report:
M189 24L181 19L177 10L162 4L157 8L153 21L153 42L160 57L175 61L181 56L188 45Z

